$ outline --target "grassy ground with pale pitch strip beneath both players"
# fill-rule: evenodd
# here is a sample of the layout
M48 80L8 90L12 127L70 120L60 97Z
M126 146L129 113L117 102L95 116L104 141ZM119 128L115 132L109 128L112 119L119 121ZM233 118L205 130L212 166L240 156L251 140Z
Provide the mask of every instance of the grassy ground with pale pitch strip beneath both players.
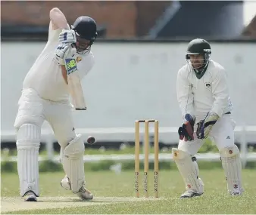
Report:
M76 196L61 188L60 180L64 174L40 174L41 198L39 200L43 200L36 203L19 201L19 204L10 204L14 197L19 196L18 177L17 174L4 173L2 174L1 195L2 198L9 201L11 206L9 206L9 212L5 208L2 213L256 213L255 170L243 170L245 193L242 196L227 194L223 170L201 170L200 175L204 180L204 195L180 200L180 194L184 191L180 174L176 170L162 170L159 181L160 198L158 201L151 201L154 184L153 173L150 172L149 192L151 198L136 201L137 198L133 198L135 196L133 171L125 171L119 175L111 171L86 172L86 184L95 194L95 199L93 201L78 201L76 198L70 200L70 197ZM142 174L140 181L142 192ZM52 197L53 200L47 201L48 197ZM62 198L60 199L60 197ZM122 199L122 201L118 201L118 199ZM24 207L24 204L26 210L19 210L21 205ZM66 204L68 207L65 207ZM59 208L48 208L50 205ZM4 207L5 201L2 201L2 210Z

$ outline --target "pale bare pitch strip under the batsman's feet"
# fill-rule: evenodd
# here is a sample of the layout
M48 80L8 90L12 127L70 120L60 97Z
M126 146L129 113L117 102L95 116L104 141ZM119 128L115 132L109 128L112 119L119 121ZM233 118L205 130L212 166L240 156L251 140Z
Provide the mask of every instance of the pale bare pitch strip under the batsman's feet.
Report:
M114 204L126 201L156 201L162 198L95 197L91 201L81 201L75 197L40 197L39 201L27 202L22 198L1 198L1 211L38 210L63 207L85 207L97 204Z

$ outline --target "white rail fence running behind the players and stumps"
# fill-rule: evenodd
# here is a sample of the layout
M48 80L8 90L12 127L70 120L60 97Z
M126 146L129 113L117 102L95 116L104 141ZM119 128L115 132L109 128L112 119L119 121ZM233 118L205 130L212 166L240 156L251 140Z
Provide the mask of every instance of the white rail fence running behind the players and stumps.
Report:
M177 141L177 127L159 127L159 140L166 143L176 143ZM82 134L84 142L86 142L87 137L92 135L95 137L96 141L102 140L121 140L134 141L134 127L105 127L105 128L76 128L76 133ZM142 134L143 129L140 130ZM149 128L149 134L154 134L154 127ZM16 139L16 134L14 131L2 131L1 141L8 142L14 141ZM236 143L241 144L241 158L243 167L247 161L256 161L256 153L248 152L248 143L256 142L256 126L236 126L235 128L235 140ZM52 130L42 129L42 143L46 143L46 149L48 154L48 159L57 161L59 156L54 155L53 143L55 143L54 134ZM255 143L256 144L256 143ZM151 157L150 159L153 159ZM219 160L218 153L201 153L196 155L198 160L205 161L215 161ZM141 155L141 159L143 155ZM40 158L42 159L42 158ZM100 161L100 160L132 160L134 155L85 155L85 161ZM160 160L171 160L170 154L161 153L159 155ZM12 158L16 160L16 158Z

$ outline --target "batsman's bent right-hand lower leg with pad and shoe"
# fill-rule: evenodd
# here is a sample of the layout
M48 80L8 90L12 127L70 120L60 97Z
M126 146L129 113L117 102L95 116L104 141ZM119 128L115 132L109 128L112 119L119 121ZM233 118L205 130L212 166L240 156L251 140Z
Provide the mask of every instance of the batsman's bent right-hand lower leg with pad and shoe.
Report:
M64 189L71 190L81 199L92 199L93 195L85 185L85 172L83 155L85 146L80 134L67 144L61 155L61 163L66 176L61 180L61 186Z

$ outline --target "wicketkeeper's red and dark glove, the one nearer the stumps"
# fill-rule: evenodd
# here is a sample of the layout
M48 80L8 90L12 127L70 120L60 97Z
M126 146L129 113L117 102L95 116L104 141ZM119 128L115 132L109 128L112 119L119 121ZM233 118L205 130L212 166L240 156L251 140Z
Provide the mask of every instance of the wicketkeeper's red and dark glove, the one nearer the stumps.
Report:
M179 127L178 133L180 135L180 140L191 141L194 140L194 125L195 125L195 115L186 114L184 116L185 121L182 127Z

